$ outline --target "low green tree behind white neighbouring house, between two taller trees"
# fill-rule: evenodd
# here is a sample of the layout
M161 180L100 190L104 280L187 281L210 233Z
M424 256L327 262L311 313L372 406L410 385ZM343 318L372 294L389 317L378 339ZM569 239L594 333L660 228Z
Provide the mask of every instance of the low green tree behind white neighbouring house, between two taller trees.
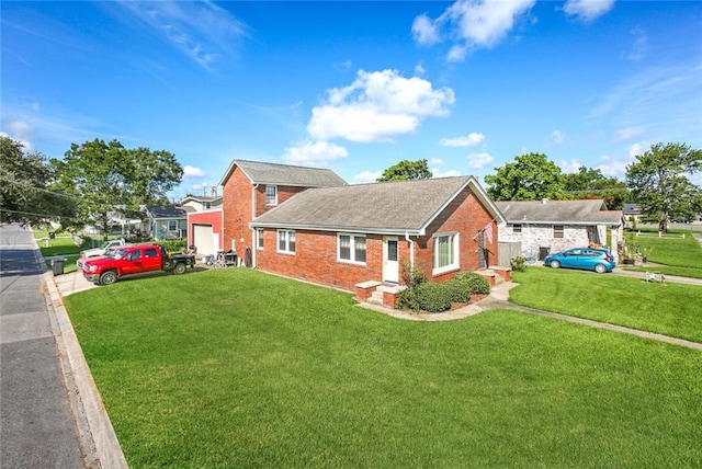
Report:
M586 167L580 167L576 173L564 174L564 188L574 199L601 198L610 210L621 210L631 199L626 182L608 178L599 169Z

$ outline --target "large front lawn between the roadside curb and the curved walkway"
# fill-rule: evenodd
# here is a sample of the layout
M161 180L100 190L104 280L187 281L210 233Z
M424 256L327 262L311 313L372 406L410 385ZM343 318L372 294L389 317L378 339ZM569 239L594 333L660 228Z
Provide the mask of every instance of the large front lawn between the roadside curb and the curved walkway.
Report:
M508 310L404 321L237 268L65 302L133 468L702 465L699 351Z

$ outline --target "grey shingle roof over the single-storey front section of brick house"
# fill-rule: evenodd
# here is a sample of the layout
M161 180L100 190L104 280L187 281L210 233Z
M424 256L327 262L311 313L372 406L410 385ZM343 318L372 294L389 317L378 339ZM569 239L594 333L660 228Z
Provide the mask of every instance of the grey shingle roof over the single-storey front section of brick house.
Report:
M395 181L304 191L251 221L251 227L424 234L466 186L499 221L502 215L472 176Z

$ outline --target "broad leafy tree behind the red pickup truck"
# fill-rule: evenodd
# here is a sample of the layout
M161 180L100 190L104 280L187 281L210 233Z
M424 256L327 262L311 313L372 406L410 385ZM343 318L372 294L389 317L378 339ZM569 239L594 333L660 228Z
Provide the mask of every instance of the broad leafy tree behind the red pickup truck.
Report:
M134 214L139 205L165 202L166 193L183 175L170 152L127 149L117 140L71 144L63 160L52 162L60 186L78 201L80 221L105 237L114 217Z

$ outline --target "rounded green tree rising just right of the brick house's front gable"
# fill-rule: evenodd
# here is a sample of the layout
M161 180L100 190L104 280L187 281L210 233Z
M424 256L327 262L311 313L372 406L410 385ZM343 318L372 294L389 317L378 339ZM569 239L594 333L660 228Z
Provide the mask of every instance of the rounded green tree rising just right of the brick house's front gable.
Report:
M565 198L561 168L545 155L522 155L496 170L497 174L485 176L487 192L495 201Z

